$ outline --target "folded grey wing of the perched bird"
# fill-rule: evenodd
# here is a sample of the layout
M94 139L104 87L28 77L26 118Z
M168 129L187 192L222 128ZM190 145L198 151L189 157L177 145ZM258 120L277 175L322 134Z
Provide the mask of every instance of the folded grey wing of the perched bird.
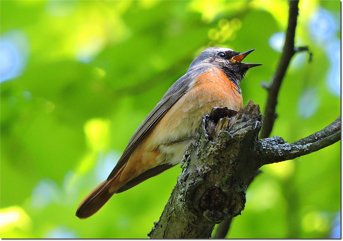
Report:
M118 160L117 165L109 174L107 181L115 176L118 170L130 158L132 152L140 143L140 141L149 133L156 123L168 112L168 110L188 91L190 83L196 79L201 73L208 71L210 67L200 67L193 69L178 79L168 91L164 94L162 99L157 103L154 109L147 115L143 122L138 126L129 140L128 146L125 148L123 155Z

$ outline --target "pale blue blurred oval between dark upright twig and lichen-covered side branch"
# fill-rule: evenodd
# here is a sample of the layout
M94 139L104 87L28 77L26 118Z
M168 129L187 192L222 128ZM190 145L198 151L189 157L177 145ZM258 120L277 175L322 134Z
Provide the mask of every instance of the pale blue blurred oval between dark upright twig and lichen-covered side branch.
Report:
M313 116L319 107L319 96L316 87L306 89L299 97L297 110L301 118Z

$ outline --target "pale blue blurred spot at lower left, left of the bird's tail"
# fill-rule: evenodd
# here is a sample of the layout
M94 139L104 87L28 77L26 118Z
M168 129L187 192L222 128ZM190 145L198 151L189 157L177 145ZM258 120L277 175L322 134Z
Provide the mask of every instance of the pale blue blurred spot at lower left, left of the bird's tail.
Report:
M44 208L51 202L59 202L60 190L56 182L51 179L42 179L33 188L31 206Z

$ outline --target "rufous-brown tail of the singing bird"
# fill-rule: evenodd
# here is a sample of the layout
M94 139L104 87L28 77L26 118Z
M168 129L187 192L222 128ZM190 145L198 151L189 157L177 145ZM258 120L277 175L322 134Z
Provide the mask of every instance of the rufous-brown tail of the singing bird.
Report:
M122 182L119 181L121 172L126 166L118 171L118 173L110 180L105 180L100 183L93 191L88 194L81 201L78 209L76 210L76 216L80 219L85 219L96 212L105 205L105 203L116 193L116 191L122 186Z

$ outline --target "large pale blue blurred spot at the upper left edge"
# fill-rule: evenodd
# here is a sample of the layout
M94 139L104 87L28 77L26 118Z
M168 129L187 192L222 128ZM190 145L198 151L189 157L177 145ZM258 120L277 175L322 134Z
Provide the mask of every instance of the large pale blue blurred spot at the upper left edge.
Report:
M14 79L26 68L28 40L20 30L1 35L0 40L0 82Z

